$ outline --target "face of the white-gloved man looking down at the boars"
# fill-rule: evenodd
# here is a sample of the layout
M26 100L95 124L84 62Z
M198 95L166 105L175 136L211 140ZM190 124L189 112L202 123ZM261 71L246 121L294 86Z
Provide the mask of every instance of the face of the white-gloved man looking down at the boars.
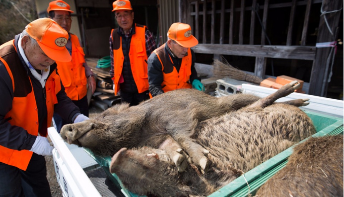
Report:
M55 63L42 51L38 44L32 45L31 39L27 35L22 38L21 47L27 60L35 69L43 70Z

